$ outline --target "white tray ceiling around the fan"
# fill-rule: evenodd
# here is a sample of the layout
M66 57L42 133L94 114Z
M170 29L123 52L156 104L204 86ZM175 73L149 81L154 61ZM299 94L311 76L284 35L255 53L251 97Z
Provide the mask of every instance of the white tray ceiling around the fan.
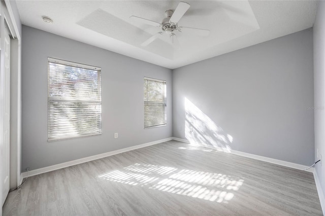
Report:
M129 17L161 23L180 1L16 2L24 25L171 69L312 27L317 8L317 1L183 1L190 8L178 26L209 29L210 35L177 32L176 49L167 35L140 46L161 28Z

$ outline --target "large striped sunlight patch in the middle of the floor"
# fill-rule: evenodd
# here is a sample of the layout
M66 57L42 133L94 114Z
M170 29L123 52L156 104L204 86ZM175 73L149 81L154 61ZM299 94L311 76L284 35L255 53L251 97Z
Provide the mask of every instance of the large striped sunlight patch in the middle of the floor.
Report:
M101 175L100 179L213 202L228 203L244 180L229 175L135 163Z

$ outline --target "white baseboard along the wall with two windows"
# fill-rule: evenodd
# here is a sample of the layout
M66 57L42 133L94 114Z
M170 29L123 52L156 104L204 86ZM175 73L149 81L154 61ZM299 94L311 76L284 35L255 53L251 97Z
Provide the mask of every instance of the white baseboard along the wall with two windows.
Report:
M137 146L133 146L133 147L127 147L127 148L119 149L119 150L112 151L112 152L107 152L107 153L103 153L103 154L99 154L99 155L94 155L94 156L90 156L90 157L86 157L86 158L81 158L81 159L77 159L77 160L73 160L73 161L68 161L68 162L64 162L64 163L60 163L60 164L55 164L55 165L52 165L52 166L47 166L47 167L43 167L43 168L39 168L39 169L30 170L28 172L28 176L38 175L38 174L42 174L42 173L45 173L45 172L50 172L50 171L53 171L53 170L62 169L62 168L66 168L66 167L69 167L69 166L85 163L85 162L88 162L88 161L93 161L93 160L105 158L105 157L108 157L108 156L120 154L120 153L123 153L123 152L128 152L128 151L132 151L132 150L136 150L136 149L141 149L141 148L144 148L144 147L147 147L147 146L156 145L156 144L161 143L161 142L170 141L172 139L173 139L172 137L169 137L169 138L166 138L166 139L159 139L159 140L156 140L156 141L147 142L147 143L137 145ZM27 172L21 173L21 181L25 177L27 177Z

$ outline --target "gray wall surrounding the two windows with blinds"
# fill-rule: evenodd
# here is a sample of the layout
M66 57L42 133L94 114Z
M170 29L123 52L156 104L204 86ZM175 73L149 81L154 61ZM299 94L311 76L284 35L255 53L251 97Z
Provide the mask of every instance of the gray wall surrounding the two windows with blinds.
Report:
M23 171L172 136L170 69L27 26L22 35ZM102 135L47 142L47 57L102 67ZM144 77L167 81L167 126L144 129Z

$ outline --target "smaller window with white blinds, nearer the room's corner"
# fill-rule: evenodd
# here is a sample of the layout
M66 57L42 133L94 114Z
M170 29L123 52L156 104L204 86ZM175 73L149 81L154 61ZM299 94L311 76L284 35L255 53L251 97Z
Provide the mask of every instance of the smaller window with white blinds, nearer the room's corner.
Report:
M166 81L144 78L144 128L166 125Z

